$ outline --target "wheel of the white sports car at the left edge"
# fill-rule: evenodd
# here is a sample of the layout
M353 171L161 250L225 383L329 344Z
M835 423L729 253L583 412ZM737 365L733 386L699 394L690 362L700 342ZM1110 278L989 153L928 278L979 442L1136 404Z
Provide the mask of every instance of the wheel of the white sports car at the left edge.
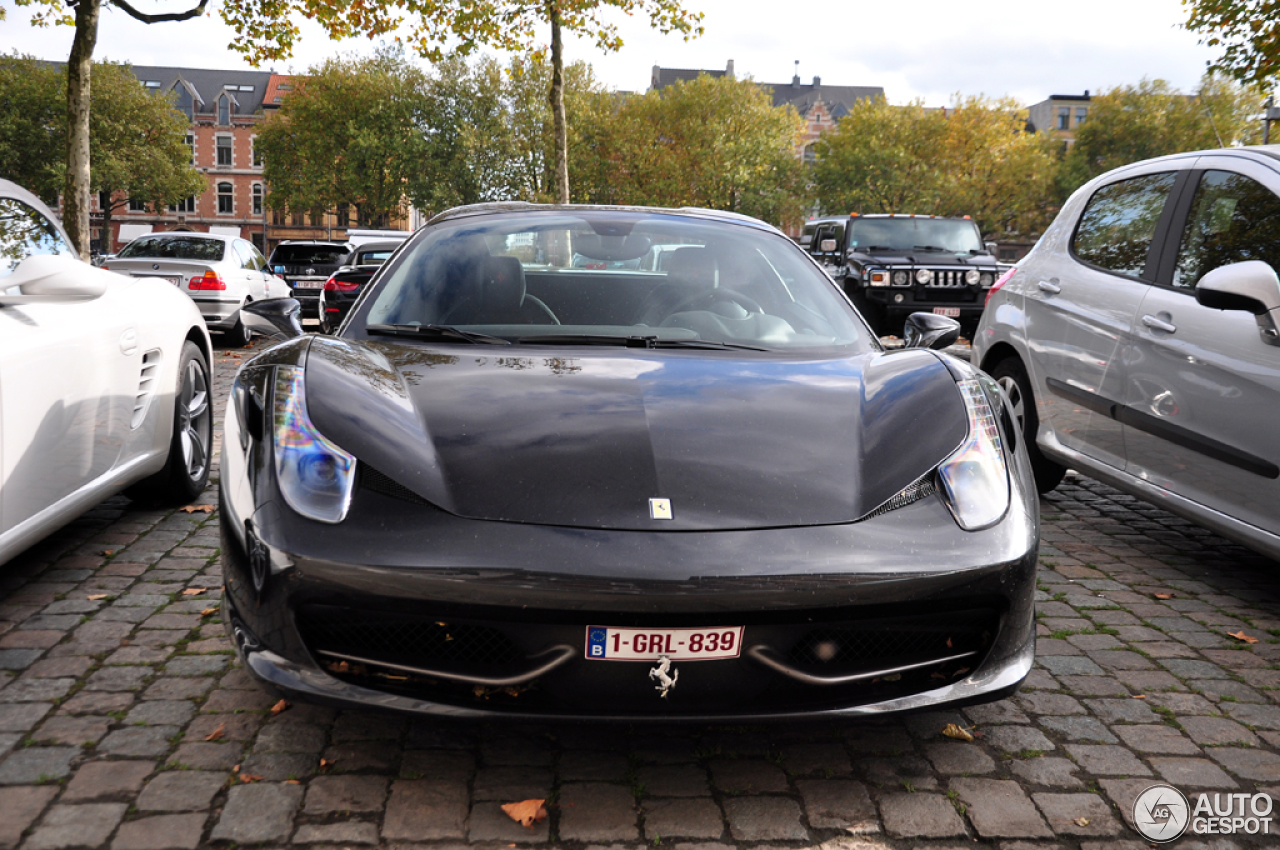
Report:
M182 346L178 397L174 401L173 438L164 469L125 493L133 499L187 504L204 493L214 448L212 380L209 364L196 343Z

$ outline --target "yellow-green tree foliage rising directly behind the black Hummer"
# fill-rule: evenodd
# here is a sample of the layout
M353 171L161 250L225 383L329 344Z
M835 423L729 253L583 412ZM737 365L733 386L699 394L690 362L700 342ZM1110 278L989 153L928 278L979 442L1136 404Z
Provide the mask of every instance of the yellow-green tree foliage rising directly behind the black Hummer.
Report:
M814 193L829 212L972 215L987 233L1028 233L1052 214L1057 161L1025 127L1009 99L858 101L817 143Z

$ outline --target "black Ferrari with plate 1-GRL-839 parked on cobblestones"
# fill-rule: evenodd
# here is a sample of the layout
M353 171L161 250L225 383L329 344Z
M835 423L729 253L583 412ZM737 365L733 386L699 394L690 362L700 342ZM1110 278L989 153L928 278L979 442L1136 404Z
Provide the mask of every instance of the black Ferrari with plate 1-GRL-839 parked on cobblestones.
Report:
M680 245L666 271L607 266ZM292 300L223 442L224 622L301 699L451 717L874 714L1034 657L1038 516L995 381L886 352L730 212L442 214L338 337Z

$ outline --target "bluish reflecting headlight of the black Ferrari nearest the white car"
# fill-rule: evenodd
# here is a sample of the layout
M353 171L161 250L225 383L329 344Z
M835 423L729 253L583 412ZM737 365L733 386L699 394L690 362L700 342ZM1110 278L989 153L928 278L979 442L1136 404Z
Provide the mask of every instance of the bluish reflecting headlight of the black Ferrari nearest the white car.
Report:
M307 518L342 522L356 484L356 458L311 424L305 380L297 366L276 366L271 421L275 477L284 501Z

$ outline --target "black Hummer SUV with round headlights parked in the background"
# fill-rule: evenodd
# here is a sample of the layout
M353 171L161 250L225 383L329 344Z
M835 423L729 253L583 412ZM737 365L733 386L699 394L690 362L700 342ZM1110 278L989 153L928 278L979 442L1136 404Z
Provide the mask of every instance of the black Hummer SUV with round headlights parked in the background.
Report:
M972 334L1000 274L995 245L968 216L842 215L806 221L800 247L845 288L877 334L934 312Z

